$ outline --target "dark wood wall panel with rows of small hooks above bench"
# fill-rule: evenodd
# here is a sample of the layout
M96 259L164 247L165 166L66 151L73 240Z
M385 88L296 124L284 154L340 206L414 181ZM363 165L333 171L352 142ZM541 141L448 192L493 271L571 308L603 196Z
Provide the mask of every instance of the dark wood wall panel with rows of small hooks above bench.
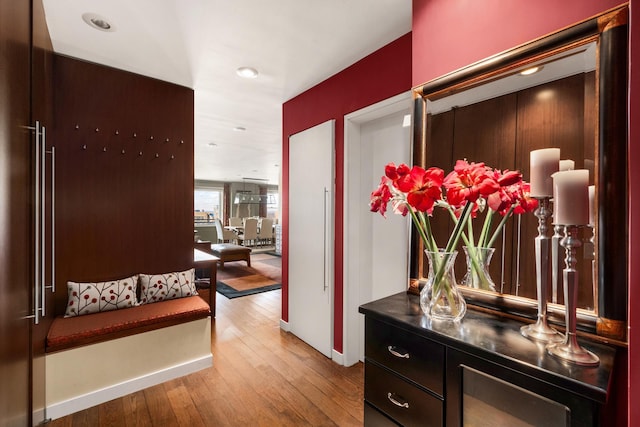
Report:
M56 313L66 282L190 268L191 89L64 56L54 63Z

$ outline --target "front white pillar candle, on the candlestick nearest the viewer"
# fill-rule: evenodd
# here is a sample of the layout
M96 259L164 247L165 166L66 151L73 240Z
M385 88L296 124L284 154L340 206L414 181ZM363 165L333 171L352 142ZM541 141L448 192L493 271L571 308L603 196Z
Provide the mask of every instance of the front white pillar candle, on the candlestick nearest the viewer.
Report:
M561 225L589 223L589 171L553 174L555 222Z

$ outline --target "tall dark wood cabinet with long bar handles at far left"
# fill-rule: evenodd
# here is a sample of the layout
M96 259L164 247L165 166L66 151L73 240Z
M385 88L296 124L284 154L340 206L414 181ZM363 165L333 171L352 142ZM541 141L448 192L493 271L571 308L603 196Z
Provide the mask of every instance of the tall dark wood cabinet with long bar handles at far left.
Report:
M47 313L39 310L34 323L45 293L34 286L33 128L35 121L49 126L52 117L52 47L42 0L0 1L0 55L0 425L37 425L45 413Z

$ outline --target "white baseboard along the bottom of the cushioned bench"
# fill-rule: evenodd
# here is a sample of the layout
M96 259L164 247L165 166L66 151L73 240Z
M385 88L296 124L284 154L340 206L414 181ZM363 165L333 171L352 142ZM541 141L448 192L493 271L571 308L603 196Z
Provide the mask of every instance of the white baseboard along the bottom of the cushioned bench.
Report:
M152 372L138 378L114 384L113 386L96 390L64 402L58 402L46 409L46 416L52 420L64 417L74 412L82 411L92 406L99 405L127 394L151 387L174 378L182 377L193 372L213 366L213 355L194 359L180 365L172 366L161 371Z

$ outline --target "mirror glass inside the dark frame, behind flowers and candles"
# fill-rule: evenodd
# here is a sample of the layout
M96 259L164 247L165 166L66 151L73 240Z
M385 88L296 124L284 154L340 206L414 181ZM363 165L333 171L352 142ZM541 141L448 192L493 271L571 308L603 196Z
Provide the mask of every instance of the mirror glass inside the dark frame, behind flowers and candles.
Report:
M469 83L427 94L426 165L440 167L446 174L456 160L466 159L499 170L520 171L528 182L529 153L554 147L560 149L561 159L570 160L563 167L589 170L590 184L595 184L596 55L597 43L587 39ZM484 215L480 213L473 220L476 237L481 232ZM500 219L499 216L493 219L491 231ZM442 234L436 236L438 241L446 241L453 227L448 214L436 211L432 225ZM537 227L538 219L532 213L514 215L492 245L495 252L489 272L498 293L536 298ZM597 307L594 231L592 227L581 229L583 246L578 250L581 278L578 307L588 311ZM458 278L464 277L467 269L464 253L460 252L456 264ZM562 256L556 267L557 277L562 277L563 267ZM563 304L561 279L550 289L550 302Z

